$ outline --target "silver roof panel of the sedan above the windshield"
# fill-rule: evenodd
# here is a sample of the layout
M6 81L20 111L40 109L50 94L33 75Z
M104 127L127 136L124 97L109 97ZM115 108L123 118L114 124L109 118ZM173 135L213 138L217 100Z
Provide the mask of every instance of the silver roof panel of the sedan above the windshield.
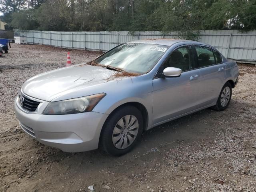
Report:
M196 41L184 40L184 39L142 39L142 40L134 40L129 43L144 43L144 44L156 44L156 45L166 45L172 46L175 43L179 42L191 42L194 44L198 44Z

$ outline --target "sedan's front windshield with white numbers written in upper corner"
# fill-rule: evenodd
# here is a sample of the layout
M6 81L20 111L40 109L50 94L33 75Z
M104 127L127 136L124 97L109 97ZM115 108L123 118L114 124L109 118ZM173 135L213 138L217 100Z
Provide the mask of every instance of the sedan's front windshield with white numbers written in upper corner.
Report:
M94 62L121 68L126 72L145 74L155 66L167 49L168 46L164 45L126 43L110 50Z

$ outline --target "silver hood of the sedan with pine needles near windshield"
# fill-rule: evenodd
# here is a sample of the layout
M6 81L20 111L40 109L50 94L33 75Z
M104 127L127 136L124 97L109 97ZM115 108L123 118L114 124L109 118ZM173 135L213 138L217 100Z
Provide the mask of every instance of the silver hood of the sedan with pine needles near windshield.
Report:
M22 92L28 96L51 101L67 90L106 83L114 71L99 66L79 64L42 73L27 80Z

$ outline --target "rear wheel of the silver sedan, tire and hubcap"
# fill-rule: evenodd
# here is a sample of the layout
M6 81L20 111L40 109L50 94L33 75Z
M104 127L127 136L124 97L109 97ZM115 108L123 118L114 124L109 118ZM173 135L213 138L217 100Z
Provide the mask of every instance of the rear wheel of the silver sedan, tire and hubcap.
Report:
M214 105L212 108L216 111L225 110L230 103L231 96L232 96L232 86L229 82L226 82L222 87L222 90L220 92L216 105Z

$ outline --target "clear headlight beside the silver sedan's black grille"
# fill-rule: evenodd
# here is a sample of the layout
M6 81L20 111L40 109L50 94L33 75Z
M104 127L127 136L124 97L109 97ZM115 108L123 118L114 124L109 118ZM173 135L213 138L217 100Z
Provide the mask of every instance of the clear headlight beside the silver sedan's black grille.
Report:
M92 111L106 93L86 97L50 102L44 110L44 115L64 115Z

